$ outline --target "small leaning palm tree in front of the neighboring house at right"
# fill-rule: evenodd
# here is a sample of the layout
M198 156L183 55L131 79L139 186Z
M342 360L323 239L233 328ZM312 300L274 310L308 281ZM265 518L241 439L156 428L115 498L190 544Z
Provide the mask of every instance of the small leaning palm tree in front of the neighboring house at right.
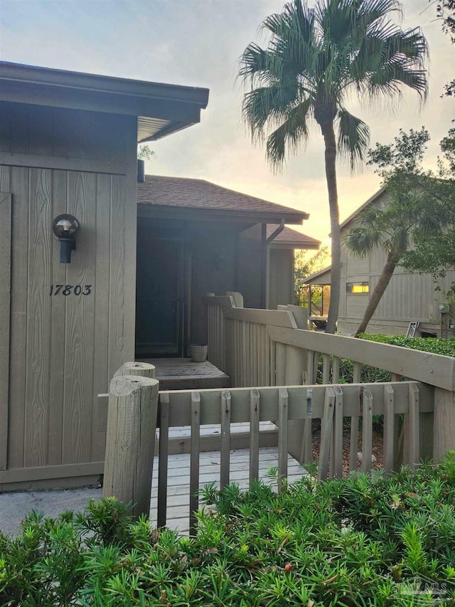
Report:
M370 296L355 337L365 332L395 268L410 250L414 236L416 234L419 234L420 238L434 234L440 236L441 231L450 221L446 213L435 208L431 197L423 196L418 185L416 191L408 193L397 190L392 193L388 206L378 207L370 204L361 211L353 228L343 236L346 248L360 258L367 257L378 248L382 248L387 253L384 268Z

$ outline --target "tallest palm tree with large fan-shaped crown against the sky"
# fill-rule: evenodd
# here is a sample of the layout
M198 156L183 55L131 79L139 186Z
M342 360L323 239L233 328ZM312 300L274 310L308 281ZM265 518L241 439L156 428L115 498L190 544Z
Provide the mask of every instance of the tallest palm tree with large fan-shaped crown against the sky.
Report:
M390 22L396 0L316 0L310 9L293 0L262 23L266 49L251 43L240 58L239 75L250 90L242 114L252 139L267 139L267 157L282 167L287 152L309 138L312 121L325 144L331 221L331 302L326 331L333 333L340 300L341 241L336 186L337 152L351 168L363 160L369 130L346 110L351 93L373 102L400 95L402 85L424 99L427 41L419 28L402 31Z

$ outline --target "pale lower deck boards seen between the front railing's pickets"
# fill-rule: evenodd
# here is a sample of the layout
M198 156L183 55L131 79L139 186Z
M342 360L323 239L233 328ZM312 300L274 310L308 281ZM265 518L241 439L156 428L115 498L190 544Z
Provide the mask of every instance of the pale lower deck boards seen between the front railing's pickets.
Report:
M232 450L230 456L230 482L235 482L241 489L248 487L249 450ZM276 486L276 482L267 476L270 468L278 466L278 448L265 447L259 449L259 478ZM288 456L288 481L296 482L306 475L304 468ZM211 451L200 454L200 483L199 487L215 482L220 485L220 452ZM150 519L156 524L156 507L158 496L158 458L154 460L154 473L151 486ZM188 534L190 503L190 455L170 455L168 459L168 502L167 522L169 529L176 529L181 534Z

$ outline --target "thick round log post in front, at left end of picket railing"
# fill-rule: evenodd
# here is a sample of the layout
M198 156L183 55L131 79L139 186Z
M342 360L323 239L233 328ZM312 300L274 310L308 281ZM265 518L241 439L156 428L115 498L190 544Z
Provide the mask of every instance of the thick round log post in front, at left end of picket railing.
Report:
M109 386L103 497L132 504L132 514L150 514L159 381L116 376Z

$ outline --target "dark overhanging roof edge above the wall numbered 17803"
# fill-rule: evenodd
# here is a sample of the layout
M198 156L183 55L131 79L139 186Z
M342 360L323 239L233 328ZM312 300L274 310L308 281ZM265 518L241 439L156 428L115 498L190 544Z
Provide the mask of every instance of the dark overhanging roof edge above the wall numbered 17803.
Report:
M200 122L208 89L0 61L0 100L137 116L144 142Z

